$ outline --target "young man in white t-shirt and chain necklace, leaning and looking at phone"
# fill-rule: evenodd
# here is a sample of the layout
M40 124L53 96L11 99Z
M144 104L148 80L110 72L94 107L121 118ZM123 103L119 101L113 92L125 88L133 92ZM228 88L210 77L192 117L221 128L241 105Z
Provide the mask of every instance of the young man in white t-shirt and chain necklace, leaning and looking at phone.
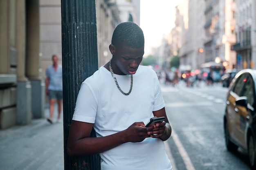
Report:
M109 46L112 59L81 84L67 152L100 154L101 170L172 170L164 142L171 136L155 71L140 66L144 34L119 24ZM152 117L165 121L145 127ZM92 128L97 137L91 138Z

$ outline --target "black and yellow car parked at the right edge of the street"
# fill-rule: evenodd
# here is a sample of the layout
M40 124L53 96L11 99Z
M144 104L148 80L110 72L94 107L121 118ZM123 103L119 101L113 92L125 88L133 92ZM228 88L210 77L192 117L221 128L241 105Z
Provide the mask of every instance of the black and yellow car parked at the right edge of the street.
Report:
M239 71L232 80L224 115L227 150L238 147L249 155L252 169L256 169L256 70Z

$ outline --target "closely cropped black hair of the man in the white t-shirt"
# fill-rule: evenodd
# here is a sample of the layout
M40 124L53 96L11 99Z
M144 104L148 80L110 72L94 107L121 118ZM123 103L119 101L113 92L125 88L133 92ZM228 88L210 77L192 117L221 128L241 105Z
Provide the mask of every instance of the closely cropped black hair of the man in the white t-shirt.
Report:
M120 47L126 45L138 49L144 46L144 34L141 28L134 22L122 22L115 28L111 44Z

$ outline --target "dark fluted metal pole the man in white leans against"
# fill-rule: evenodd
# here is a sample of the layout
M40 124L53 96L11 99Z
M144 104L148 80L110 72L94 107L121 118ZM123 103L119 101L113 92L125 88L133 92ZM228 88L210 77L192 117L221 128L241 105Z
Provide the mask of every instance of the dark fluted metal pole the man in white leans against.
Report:
M64 169L100 170L100 157L70 157L67 138L81 83L98 69L95 0L61 0ZM91 137L95 137L95 131Z

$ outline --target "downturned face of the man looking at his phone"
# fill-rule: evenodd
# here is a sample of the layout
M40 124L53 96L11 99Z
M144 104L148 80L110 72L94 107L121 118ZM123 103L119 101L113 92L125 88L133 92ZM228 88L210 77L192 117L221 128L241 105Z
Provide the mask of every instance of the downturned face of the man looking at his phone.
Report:
M123 45L121 47L115 48L114 54L112 53L112 55L114 59L113 64L115 64L115 74L135 74L144 55L144 46L139 49L133 49Z

